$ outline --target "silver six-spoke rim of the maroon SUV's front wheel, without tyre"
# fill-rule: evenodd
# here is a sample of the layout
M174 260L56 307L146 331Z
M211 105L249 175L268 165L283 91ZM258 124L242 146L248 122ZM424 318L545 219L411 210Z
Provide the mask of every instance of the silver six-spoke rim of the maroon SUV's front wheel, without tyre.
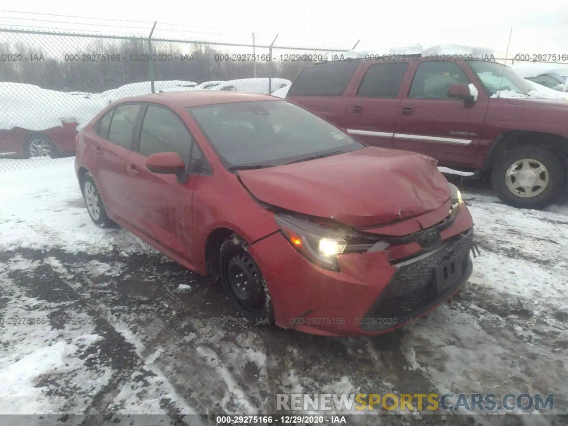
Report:
M548 170L533 158L515 161L506 174L507 187L517 197L536 197L548 186Z

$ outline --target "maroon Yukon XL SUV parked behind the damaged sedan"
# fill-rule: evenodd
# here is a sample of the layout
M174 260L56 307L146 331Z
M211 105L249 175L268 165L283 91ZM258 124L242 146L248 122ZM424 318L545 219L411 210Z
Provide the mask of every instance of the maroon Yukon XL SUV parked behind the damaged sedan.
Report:
M510 206L543 208L565 189L567 101L499 97L499 90L528 94L534 87L495 61L387 59L395 60L309 66L286 98L369 145L421 152L491 177Z

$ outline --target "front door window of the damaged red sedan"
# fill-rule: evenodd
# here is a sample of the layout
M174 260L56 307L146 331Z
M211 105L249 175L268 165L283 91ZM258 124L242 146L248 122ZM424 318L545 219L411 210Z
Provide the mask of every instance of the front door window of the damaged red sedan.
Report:
M145 156L157 152L177 152L187 163L191 135L179 116L164 107L148 105L140 131L138 151Z

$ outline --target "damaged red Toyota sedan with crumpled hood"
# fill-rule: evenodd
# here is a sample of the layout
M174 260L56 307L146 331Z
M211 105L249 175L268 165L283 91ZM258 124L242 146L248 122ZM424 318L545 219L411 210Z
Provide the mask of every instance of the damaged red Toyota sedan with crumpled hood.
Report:
M284 99L121 99L80 131L76 173L95 224L220 277L254 323L382 333L471 274L471 215L435 160L369 147Z

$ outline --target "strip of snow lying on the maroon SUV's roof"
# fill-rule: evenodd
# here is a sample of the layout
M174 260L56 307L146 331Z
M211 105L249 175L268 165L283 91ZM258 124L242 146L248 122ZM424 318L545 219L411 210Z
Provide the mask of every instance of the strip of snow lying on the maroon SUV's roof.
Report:
M485 47L471 47L460 44L440 44L428 48L424 48L422 45L415 46L403 46L394 48L379 48L373 49L371 51L348 51L343 53L333 53L330 54L328 60L332 60L333 57L341 56L345 59L357 59L364 58L367 55L471 55L473 59L486 59L493 55L493 49Z

